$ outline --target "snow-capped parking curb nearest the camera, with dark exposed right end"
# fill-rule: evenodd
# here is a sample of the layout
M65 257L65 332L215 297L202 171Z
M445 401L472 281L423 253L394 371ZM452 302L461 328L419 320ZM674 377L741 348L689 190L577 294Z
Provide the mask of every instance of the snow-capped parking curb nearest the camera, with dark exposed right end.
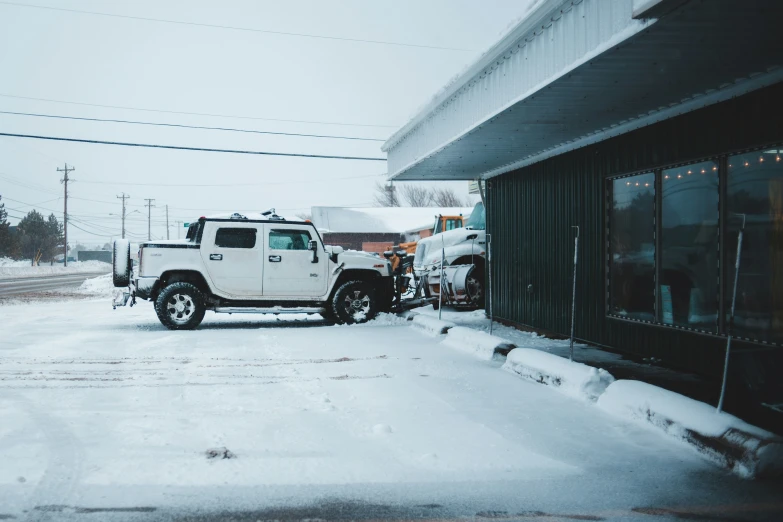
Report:
M612 383L598 407L647 422L745 478L783 475L783 438L715 407L640 381Z

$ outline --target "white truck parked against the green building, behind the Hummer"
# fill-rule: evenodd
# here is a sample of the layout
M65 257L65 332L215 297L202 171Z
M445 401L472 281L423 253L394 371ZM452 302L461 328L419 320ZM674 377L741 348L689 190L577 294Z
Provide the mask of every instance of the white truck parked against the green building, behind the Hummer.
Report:
M487 232L483 203L477 203L464 228L441 232L419 240L413 261L416 278L424 278L426 297L437 297L434 307L452 304L483 308ZM441 259L443 263L441 263ZM441 264L445 284L440 289Z

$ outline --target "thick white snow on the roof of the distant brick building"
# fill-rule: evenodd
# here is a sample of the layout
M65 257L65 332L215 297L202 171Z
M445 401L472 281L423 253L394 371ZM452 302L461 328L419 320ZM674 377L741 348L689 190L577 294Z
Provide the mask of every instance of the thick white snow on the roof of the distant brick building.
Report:
M387 232L402 234L422 223L434 224L435 216L470 216L471 207L313 207L313 223L327 232ZM420 230L420 229L418 229Z

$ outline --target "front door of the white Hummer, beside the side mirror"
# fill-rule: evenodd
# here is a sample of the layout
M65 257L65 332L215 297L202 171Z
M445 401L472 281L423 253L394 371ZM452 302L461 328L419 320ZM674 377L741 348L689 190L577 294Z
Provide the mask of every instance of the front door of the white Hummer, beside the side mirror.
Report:
M313 227L267 223L265 225L264 296L320 297L326 294L328 258ZM307 249L318 241L316 260Z

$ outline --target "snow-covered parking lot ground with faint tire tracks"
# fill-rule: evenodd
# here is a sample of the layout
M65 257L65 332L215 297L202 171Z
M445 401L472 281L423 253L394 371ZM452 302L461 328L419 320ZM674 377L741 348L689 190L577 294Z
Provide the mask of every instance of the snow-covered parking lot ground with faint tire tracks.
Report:
M169 331L150 303L93 297L0 317L0 519L783 512L779 483L736 478L395 316L208 314Z

